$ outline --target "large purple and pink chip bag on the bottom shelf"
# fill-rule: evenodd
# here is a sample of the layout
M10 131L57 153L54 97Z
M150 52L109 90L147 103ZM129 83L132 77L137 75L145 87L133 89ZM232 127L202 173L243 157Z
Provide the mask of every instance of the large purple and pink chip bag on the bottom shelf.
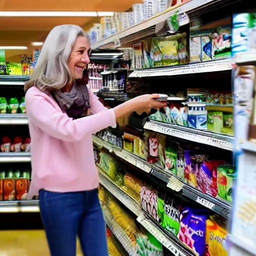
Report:
M205 251L207 216L205 211L189 207L185 207L180 216L178 238L199 256L203 256Z

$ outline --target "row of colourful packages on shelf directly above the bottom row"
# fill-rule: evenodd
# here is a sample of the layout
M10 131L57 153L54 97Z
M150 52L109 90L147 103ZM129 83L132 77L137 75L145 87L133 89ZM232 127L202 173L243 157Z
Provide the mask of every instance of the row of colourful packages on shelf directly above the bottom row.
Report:
M236 171L229 162L228 154L225 156L223 152L206 150L201 146L150 131L141 134L130 129L123 134L113 134L106 130L97 133L97 136L114 145L116 149L138 156L145 165L149 163L151 169L155 166L156 170L160 169L169 177L174 175L202 193L232 201L232 184ZM117 156L121 155L118 150L115 153Z

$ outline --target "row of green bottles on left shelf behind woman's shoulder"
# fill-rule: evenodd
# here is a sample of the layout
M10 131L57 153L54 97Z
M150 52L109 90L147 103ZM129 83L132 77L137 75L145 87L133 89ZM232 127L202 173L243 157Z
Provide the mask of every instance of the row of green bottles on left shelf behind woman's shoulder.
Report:
M0 113L25 113L25 97L0 97Z

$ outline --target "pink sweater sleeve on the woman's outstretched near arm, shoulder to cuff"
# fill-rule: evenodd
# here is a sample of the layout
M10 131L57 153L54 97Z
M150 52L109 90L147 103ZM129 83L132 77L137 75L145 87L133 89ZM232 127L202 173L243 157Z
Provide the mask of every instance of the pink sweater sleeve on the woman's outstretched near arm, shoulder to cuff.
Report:
M116 123L113 109L74 120L57 109L50 97L29 90L25 104L29 122L46 134L64 141L78 141L85 134L95 133Z

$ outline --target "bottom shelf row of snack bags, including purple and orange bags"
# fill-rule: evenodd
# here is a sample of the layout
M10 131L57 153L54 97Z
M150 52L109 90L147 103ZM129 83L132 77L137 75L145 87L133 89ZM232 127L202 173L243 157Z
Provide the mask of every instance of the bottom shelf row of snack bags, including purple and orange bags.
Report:
M100 173L102 172L100 171ZM145 226L149 232L156 234L156 238L161 237L160 234L166 235L165 238L160 239L160 242L167 245L167 241L169 241L172 244L169 247L170 251L173 253L176 250L177 252L174 255L227 255L225 248L226 223L221 217L216 214L212 215L210 211L195 205L191 206L187 202L181 202L179 197L167 192L161 185L154 186L151 180L150 184L145 185L144 181L137 183L137 177L134 175L130 173L125 175L127 177L124 178L126 181L123 185L117 184L113 180L111 180L112 183L105 181L101 181L101 183L116 198L119 197L118 200L131 211L134 206L127 205L126 202L129 200L126 201L121 194L129 194L130 198L133 198L130 190L133 193L139 192L140 199L137 201L137 205L140 205L142 211L136 210L137 220L141 223L149 221L149 224L145 224ZM104 180L103 177L101 179ZM110 180L109 177L108 180ZM115 186L116 189L111 186ZM107 198L109 197L111 198L107 195ZM107 198L104 200L107 201ZM135 198L133 200L136 201ZM147 221L143 221L143 218L146 218Z

